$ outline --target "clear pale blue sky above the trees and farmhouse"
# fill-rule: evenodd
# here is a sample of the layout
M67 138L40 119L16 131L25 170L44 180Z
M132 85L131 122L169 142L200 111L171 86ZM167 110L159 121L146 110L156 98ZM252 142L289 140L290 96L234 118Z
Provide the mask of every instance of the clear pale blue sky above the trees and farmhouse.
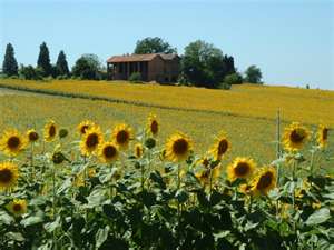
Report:
M268 84L334 89L334 0L0 0L0 59L11 42L20 63L36 64L46 41L52 62L82 53L101 60L161 37L179 53L203 39L258 66Z

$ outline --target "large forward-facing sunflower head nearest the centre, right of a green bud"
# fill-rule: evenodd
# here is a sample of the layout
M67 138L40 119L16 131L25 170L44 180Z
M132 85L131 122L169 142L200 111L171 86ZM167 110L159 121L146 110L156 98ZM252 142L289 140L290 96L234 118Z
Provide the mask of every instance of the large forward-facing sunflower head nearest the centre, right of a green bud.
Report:
M166 158L170 161L186 160L193 150L193 141L184 133L177 132L166 142Z

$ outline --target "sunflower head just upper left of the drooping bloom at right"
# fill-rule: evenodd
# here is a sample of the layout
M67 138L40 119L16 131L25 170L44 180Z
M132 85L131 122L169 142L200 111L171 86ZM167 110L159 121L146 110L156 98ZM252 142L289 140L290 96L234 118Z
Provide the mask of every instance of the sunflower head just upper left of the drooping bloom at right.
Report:
M255 162L249 158L237 157L228 167L227 167L227 177L230 181L236 179L247 179L249 178L255 169Z

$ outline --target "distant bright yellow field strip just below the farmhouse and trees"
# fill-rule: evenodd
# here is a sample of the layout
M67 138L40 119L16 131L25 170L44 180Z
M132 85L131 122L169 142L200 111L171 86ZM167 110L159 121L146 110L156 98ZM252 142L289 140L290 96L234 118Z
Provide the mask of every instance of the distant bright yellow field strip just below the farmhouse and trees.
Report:
M243 84L232 90L210 90L159 84L131 84L107 81L22 81L0 80L1 83L31 89L57 90L140 101L153 106L216 111L250 118L274 119L277 110L287 121L325 122L334 127L334 92L287 87Z

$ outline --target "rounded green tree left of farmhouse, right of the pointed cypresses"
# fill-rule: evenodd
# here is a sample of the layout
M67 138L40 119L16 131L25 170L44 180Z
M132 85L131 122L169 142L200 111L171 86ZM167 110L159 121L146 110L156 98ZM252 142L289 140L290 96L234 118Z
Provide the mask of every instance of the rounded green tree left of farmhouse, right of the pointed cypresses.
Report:
M81 79L98 80L101 70L101 62L96 54L84 54L76 61L72 74Z

